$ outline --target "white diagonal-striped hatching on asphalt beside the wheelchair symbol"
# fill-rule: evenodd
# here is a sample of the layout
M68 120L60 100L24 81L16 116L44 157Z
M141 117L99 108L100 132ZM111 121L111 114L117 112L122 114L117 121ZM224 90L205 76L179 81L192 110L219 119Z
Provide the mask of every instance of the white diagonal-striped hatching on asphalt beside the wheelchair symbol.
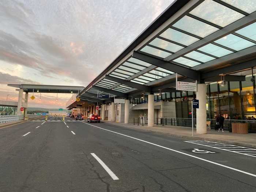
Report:
M185 141L185 142L202 145L206 147L217 148L220 150L230 151L233 153L239 153L242 155L248 155L251 157L256 157L256 149L254 148L241 147L241 146L236 146L236 145L231 145L226 143L210 142L207 140L196 140L196 141Z

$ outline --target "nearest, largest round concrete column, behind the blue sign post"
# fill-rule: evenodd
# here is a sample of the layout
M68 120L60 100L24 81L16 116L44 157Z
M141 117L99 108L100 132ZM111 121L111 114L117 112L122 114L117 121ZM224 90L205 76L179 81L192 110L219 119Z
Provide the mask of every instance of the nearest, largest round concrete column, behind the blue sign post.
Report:
M199 100L199 109L196 109L196 133L206 134L206 84L197 84L196 99Z

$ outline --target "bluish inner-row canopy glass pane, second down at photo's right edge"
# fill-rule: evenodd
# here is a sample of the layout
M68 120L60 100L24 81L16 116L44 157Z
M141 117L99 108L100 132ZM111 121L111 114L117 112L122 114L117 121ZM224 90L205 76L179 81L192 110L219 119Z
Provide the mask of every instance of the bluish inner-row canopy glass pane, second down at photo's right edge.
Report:
M255 45L254 43L247 41L247 40L240 38L233 34L229 34L229 35L222 37L214 42L216 42L220 45L226 46L228 48L237 50L237 51Z

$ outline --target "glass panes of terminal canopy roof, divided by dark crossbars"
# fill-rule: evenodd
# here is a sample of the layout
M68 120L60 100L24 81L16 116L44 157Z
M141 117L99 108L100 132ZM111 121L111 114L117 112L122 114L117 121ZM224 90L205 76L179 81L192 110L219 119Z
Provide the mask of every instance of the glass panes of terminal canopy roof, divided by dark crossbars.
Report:
M217 31L223 28L225 30L225 27L254 11L256 11L256 0L204 0L175 23L163 28L136 51L188 68L203 66L209 61L255 46L256 23L244 25L245 27L237 31L233 30L225 37L217 36L214 40L203 43L202 46L196 46L197 49L190 50L187 47L193 46L192 44L198 45L197 41L203 41L208 35L217 34ZM157 82L158 79L167 79L169 75L174 74L173 71L134 57L129 57L111 70L108 72L109 76L145 85ZM134 90L132 87L108 79L102 79L95 85L125 93Z

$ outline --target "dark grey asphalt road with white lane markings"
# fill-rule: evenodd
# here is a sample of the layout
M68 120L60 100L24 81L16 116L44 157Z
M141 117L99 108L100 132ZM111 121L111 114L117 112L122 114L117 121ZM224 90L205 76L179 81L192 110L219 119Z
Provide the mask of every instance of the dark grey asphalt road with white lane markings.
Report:
M109 123L44 122L0 129L1 192L256 191L256 157Z

